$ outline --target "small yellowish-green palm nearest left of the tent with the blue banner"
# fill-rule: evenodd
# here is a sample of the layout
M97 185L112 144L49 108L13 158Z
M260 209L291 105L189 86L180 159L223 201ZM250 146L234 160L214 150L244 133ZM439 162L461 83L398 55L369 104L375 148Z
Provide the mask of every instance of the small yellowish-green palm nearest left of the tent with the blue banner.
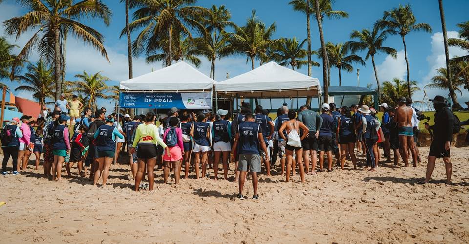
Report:
M109 91L109 87L106 85L106 81L110 81L106 76L102 76L98 72L93 75L88 75L86 71L83 74L75 75L81 81L75 81L74 91L89 96L89 106L91 109L96 110L96 100L98 98L107 99L106 93Z

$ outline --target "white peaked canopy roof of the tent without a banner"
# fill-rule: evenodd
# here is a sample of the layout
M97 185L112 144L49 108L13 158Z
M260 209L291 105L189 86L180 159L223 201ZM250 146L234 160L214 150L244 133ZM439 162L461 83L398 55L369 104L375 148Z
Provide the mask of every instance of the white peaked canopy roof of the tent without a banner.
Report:
M221 81L216 85L216 90L220 93L244 93L248 97L259 96L261 91L263 96L268 97L317 95L318 89L321 88L317 78L301 74L275 62L266 63L254 70ZM303 94L298 94L297 91L301 91ZM261 97L263 97L262 95Z

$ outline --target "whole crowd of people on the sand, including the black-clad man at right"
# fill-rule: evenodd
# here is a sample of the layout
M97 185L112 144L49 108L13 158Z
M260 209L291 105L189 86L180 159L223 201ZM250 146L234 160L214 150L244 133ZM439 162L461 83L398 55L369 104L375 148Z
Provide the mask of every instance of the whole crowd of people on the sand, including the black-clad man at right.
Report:
M451 181L449 154L454 120L442 98L432 100L437 111L435 124L426 124L426 128L434 131L435 140L430 147L426 178L419 183L428 183L436 158L444 159L447 183ZM383 103L381 118L366 105L337 108L334 103L325 103L321 113L308 105L293 111L284 104L273 119L262 106L257 105L253 113L250 104L243 102L234 115L223 109L216 113L207 109L189 113L171 108L168 116L160 119L153 112L131 118L128 114L106 115L105 108L82 110L83 104L76 96L72 102L61 96L53 112L44 112L36 121L27 115L12 118L3 128L1 174L10 173L7 163L12 158L11 174L17 175L26 169L31 154L36 156L38 170L43 154L44 177L61 181L64 164L67 175L72 177L76 163L81 177L88 177L94 185L101 179L104 187L111 164L116 163L121 151L127 151L135 191L153 190L155 166L163 169L164 183L172 171L179 184L182 167L187 179L193 164L195 178L199 179L207 177L209 166L218 180L221 162L223 178L228 180L229 163L235 162L238 198L245 198L243 186L250 172L253 198L257 199L257 174L264 165L265 174L270 176L271 168L278 167L277 159L287 182L296 176L297 165L301 182L305 181L305 174L332 172L333 157L338 168L344 169L346 161L351 161L353 169L357 169L356 148L366 156L364 169L369 171L379 167L381 148L387 162L393 158L394 165L399 165L402 158L404 165L409 166L411 157L416 167L420 162L416 145L420 116L411 104L410 98L401 98L396 108ZM145 180L148 183L142 183Z

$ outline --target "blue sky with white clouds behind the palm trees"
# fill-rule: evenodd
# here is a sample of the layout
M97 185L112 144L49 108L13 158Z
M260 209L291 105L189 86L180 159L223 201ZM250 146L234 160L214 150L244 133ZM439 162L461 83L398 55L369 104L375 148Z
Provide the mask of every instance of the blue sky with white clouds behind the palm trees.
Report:
M85 20L85 24L95 28L105 37L104 45L106 47L110 63L101 56L95 49L80 42L76 39L69 38L67 41L67 75L69 81L76 81L74 75L82 73L84 70L88 73L101 71L104 76L111 79L108 85L117 85L119 81L128 79L128 60L127 60L127 39L119 38L119 33L125 26L125 8L124 4L119 0L103 0L112 10L113 16L109 27L97 20ZM237 25L243 25L246 19L250 17L251 11L256 10L256 16L260 18L266 25L276 23L277 29L273 38L292 38L297 37L299 40L306 39L306 18L300 12L293 11L288 5L289 0L199 0L196 5L203 7L211 7L213 4L225 5L232 14L232 21ZM431 82L431 78L436 74L435 69L445 66L445 55L443 46L443 35L441 29L439 8L437 0L336 0L333 9L346 11L349 18L343 19L324 19L323 30L325 41L333 43L349 41L349 35L352 30L371 29L373 23L383 16L385 10L397 7L399 4L410 3L412 10L417 19L417 23L428 23L432 27L431 33L411 32L405 36L407 44L407 56L410 63L410 79L418 82L421 89ZM469 20L467 9L469 9L468 0L444 0L444 11L446 17L446 25L448 38L457 37L458 23ZM6 0L0 5L1 22L8 20L14 16L20 16L25 13L25 9L21 8L15 0ZM131 12L133 12L131 10ZM0 36L7 36L4 33L4 26L0 26ZM132 40L138 33L132 34ZM21 48L24 43L29 40L31 33L25 33L18 40L15 37L8 37L11 43L19 45ZM312 49L316 50L320 47L320 38L318 26L315 19L311 19L311 41ZM406 65L404 58L404 47L400 36L391 36L385 42L385 46L393 47L398 51L397 59L385 54L379 54L375 57L378 68L378 76L381 82L390 81L393 78L401 78L406 80ZM306 44L304 45L306 49ZM19 52L19 48L16 52ZM467 52L456 48L449 48L450 56L466 55ZM357 53L363 59L366 53ZM38 55L33 53L30 61L34 62L38 59ZM199 70L209 75L210 62L201 57L202 64ZM320 59L313 56L313 61L322 63ZM256 61L256 67L260 65ZM133 76L139 76L152 70L161 69L161 63L145 63L145 57L136 57L133 60ZM355 65L354 71L347 73L342 71L342 85L356 86L357 75L356 69L360 69L360 86L366 86L368 83L376 87L373 67L371 59L366 61L366 65ZM217 60L215 63L215 80L226 80L226 74L232 78L244 72L251 70L251 64L246 63L245 56L231 56ZM298 70L301 73L307 73L307 67ZM322 82L322 70L319 67L312 68L312 76L319 78ZM16 88L20 84L17 82L1 81ZM338 85L338 71L336 68L331 69L331 85ZM448 96L447 90L430 90L426 89L430 98L435 95ZM15 92L17 96L32 99L31 93ZM414 100L422 100L424 96L423 90L414 95ZM468 90L463 90L462 95L457 94L461 103L469 101ZM113 102L98 100L98 106L107 107L107 110L113 109ZM464 106L464 105L463 105Z

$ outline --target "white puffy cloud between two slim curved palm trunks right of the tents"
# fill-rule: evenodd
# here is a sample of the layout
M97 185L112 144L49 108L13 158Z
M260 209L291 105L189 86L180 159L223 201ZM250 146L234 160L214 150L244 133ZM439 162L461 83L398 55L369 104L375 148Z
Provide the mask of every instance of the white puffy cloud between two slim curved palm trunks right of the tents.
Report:
M387 55L381 64L376 66L378 70L378 79L381 83L391 81L394 78L404 79L407 75L407 65L405 64L404 50L397 52L397 58ZM372 80L375 81L374 73Z

